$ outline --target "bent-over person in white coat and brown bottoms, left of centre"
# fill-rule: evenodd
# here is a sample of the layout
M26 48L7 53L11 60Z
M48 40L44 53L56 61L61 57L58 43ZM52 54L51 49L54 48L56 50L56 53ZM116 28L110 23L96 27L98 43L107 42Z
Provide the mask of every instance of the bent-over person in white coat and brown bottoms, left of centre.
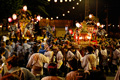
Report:
M43 75L43 63L49 63L49 58L41 53L34 53L31 55L27 63L27 68L31 68L31 72L37 76L37 74Z

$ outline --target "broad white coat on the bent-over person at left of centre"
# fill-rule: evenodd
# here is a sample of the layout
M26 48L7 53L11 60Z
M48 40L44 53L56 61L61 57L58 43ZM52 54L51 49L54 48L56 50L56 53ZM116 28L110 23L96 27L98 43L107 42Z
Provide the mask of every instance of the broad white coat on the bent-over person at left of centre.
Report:
M30 57L26 67L32 67L32 66L41 67L42 69L40 71L40 75L43 75L43 63L49 63L49 58L44 56L43 54L34 53ZM31 69L31 72L33 73L33 69Z

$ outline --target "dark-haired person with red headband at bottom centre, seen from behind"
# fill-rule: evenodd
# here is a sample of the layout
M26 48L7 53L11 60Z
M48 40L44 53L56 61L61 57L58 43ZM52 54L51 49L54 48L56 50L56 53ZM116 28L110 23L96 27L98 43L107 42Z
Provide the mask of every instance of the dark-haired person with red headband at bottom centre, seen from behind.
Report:
M63 78L57 76L56 63L50 63L48 65L49 76L43 77L41 80L63 80Z

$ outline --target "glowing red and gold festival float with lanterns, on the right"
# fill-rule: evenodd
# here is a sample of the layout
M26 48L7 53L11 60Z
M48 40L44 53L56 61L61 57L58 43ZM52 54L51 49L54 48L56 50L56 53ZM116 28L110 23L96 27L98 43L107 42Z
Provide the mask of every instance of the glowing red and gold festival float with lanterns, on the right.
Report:
M74 30L75 42L80 45L90 45L97 44L97 33L99 27L103 28L103 25L100 25L98 18L90 14L83 22L77 22L76 27Z

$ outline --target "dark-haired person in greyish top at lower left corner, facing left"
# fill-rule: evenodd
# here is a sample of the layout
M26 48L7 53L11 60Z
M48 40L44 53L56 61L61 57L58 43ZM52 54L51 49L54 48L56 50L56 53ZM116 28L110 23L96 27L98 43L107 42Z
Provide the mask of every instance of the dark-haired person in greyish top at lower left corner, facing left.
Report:
M19 67L19 58L17 56L9 57L7 60L8 73L16 74L19 80L35 80L35 76L26 68Z

